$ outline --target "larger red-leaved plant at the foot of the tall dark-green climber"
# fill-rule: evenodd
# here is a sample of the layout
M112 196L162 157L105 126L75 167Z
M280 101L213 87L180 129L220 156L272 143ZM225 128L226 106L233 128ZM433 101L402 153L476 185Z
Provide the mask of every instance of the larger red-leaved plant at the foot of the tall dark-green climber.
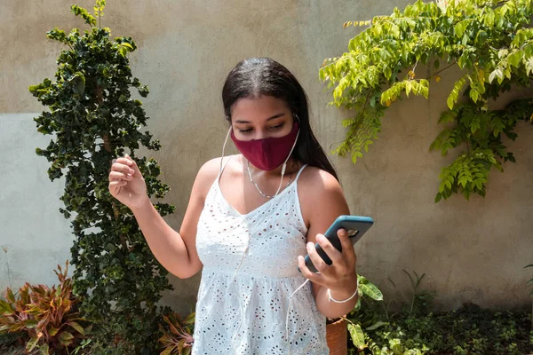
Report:
M0 334L28 335L28 352L68 353L68 348L75 347L90 329L80 324L86 322L76 312L79 301L72 293L72 280L67 276L68 262L65 271L60 265L58 270L54 270L60 280L57 287L27 282L19 288L17 297L7 288L5 301L0 300Z

